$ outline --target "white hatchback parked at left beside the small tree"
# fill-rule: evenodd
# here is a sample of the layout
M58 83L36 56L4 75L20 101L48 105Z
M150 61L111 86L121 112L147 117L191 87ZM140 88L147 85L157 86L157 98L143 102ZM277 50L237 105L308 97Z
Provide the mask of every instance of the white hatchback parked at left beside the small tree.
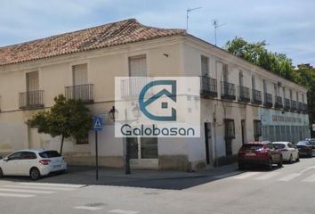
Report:
M65 171L67 163L52 150L20 150L0 160L0 177L29 176L33 180L54 171Z

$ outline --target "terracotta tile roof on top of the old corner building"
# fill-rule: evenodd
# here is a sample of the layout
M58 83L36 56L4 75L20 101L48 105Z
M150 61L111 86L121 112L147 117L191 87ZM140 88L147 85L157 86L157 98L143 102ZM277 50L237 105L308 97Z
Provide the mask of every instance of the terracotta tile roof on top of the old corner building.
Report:
M28 62L61 54L123 45L158 37L184 35L184 29L157 29L134 19L117 21L91 29L0 47L0 65Z

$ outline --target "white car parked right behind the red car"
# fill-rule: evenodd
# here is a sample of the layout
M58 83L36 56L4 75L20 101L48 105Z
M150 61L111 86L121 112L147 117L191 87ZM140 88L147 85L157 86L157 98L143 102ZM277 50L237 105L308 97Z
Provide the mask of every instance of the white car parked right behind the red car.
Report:
M282 153L283 161L289 161L292 163L295 161L300 161L299 150L294 144L290 142L273 142Z

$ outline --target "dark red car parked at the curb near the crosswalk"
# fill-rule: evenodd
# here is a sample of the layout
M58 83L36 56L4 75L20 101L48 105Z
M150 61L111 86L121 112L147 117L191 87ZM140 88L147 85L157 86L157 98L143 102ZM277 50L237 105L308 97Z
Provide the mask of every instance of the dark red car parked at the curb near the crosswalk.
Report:
M271 142L246 143L238 151L238 169L246 165L264 165L272 169L272 164L282 167L282 154Z

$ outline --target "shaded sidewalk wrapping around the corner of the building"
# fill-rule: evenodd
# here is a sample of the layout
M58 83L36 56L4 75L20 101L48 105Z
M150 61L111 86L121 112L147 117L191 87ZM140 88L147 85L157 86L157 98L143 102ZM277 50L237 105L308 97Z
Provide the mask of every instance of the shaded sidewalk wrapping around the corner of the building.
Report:
M236 164L198 170L196 172L132 169L130 175L125 175L125 169L100 168L99 180L96 180L95 168L69 166L66 173L43 177L36 182L76 185L120 185L181 190L239 173L242 172L237 170ZM28 177L5 177L3 179L13 182L33 182Z

